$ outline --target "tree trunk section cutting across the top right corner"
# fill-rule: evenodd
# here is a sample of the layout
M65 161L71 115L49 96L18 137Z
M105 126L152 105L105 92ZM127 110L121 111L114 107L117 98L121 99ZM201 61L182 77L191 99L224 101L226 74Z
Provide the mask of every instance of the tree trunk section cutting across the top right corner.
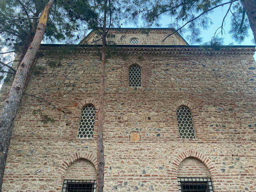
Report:
M256 43L256 0L241 0L249 19L251 30L253 31L254 41Z

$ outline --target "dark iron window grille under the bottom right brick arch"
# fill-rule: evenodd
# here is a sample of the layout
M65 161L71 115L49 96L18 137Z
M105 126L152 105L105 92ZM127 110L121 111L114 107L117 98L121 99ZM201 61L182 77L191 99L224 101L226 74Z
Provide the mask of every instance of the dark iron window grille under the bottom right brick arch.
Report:
M213 192L210 177L178 177L179 192Z

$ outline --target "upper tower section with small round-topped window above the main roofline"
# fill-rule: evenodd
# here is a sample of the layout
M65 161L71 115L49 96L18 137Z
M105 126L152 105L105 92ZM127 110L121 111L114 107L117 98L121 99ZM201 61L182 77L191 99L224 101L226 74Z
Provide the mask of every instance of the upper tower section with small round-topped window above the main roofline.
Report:
M110 28L107 41L112 41L117 45L188 45L179 33L174 33L162 41L174 31L174 28ZM102 41L99 39L100 35L91 31L80 44L100 45Z

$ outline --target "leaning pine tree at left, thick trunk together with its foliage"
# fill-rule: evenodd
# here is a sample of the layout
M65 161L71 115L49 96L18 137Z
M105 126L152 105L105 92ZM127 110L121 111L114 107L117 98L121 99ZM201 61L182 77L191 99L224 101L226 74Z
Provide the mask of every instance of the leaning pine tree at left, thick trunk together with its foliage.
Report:
M30 1L32 4L36 2L33 5L39 5L40 2L42 5L45 5L43 9L41 9L40 6L38 7L33 7L33 6L28 6L28 2L26 4L23 4L20 0L14 0L15 2L18 2L19 6L22 7L22 10L20 13L18 10L18 14L21 14L18 18L16 18L17 14L15 13L15 8L10 6L5 6L3 5L1 7L3 17L5 17L5 20L1 20L0 23L0 29L2 30L1 32L1 37L8 37L13 35L13 39L6 38L6 42L3 43L1 42L1 45L4 46L9 46L9 48L13 48L14 44L12 41L21 41L21 47L22 49L20 50L21 52L21 59L20 59L20 64L18 65L18 69L15 70L12 67L10 67L8 64L4 63L3 61L0 62L2 66L8 67L10 71L8 73L12 73L15 75L13 79L12 86L9 91L8 98L5 102L5 106L3 108L3 111L0 116L0 189L2 187L2 182L3 182L3 174L4 174L4 169L5 169L5 163L6 163L6 158L8 154L8 148L10 145L10 137L12 134L12 128L13 128L13 122L15 119L16 112L18 110L18 105L20 102L20 99L22 97L23 91L25 90L25 83L26 79L28 78L28 73L31 69L31 65L33 64L33 61L36 59L36 52L38 51L41 41L44 37L45 30L48 28L49 30L46 31L46 38L45 40L54 40L54 39L65 39L65 38L70 38L74 36L71 31L69 30L74 30L78 29L76 28L77 21L74 18L71 18L70 20L65 20L65 17L60 18L61 15L65 13L65 9L60 7L59 11L61 12L59 15L56 14L56 7L57 3L55 3L55 9L52 10L52 18L50 18L49 22L47 23L47 20L49 18L49 13L51 11L51 7L53 6L55 0L49 0L48 3L44 3L43 0L41 1ZM10 0L9 3L13 3L14 1ZM44 3L44 4L43 4ZM61 2L62 4L62 2ZM17 5L17 6L18 6ZM14 6L14 5L13 5ZM35 8L35 12L33 12L32 8ZM30 17L28 14L28 9L33 13L33 18ZM40 12L41 10L41 12ZM23 13L24 12L24 13ZM14 14L15 13L15 14ZM41 13L41 16L39 18L38 24L35 19L35 16L38 16ZM27 16L27 18L24 18L24 14ZM64 14L68 15L68 14ZM58 19L54 19L58 18ZM67 18L67 17L66 17ZM25 20L30 20L32 19L32 22L26 23L24 26L20 26L23 24ZM19 20L20 25L16 23L16 21ZM56 23L60 23L59 26L56 26L54 24L54 21ZM47 23L47 24L46 24ZM63 26L66 26L66 32L64 31ZM59 30L61 31L59 32ZM10 41L8 43L8 41ZM12 52L12 51L10 51Z

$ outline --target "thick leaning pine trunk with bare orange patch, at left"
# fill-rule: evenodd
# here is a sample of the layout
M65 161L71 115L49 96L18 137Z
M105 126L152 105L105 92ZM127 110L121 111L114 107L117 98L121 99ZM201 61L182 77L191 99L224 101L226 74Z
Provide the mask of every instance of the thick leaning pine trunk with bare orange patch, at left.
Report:
M5 170L10 138L12 135L13 122L18 110L19 102L25 90L25 82L28 77L28 72L32 65L32 61L36 57L41 41L44 36L46 22L49 15L49 9L53 5L54 0L49 0L45 5L44 11L40 16L39 23L36 29L32 43L28 47L23 60L21 61L16 75L13 79L13 84L10 87L9 95L0 117L0 191L3 184L3 174Z

